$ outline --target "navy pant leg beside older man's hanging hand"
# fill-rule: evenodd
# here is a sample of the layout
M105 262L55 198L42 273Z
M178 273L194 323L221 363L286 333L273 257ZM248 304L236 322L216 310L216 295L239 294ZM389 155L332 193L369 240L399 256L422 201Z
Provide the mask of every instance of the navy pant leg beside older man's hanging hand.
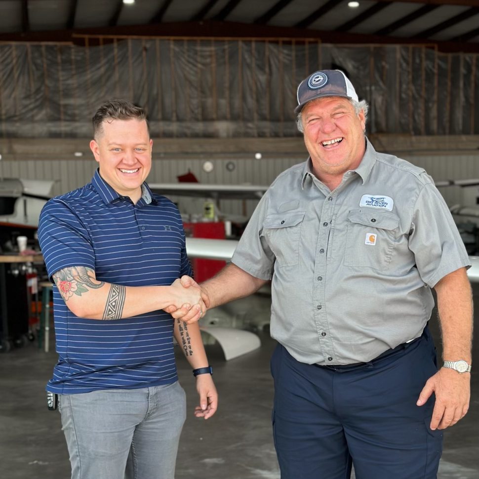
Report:
M338 412L357 479L436 479L442 432L429 428L434 395L416 405L436 372L436 351L427 333L399 355L338 374Z

